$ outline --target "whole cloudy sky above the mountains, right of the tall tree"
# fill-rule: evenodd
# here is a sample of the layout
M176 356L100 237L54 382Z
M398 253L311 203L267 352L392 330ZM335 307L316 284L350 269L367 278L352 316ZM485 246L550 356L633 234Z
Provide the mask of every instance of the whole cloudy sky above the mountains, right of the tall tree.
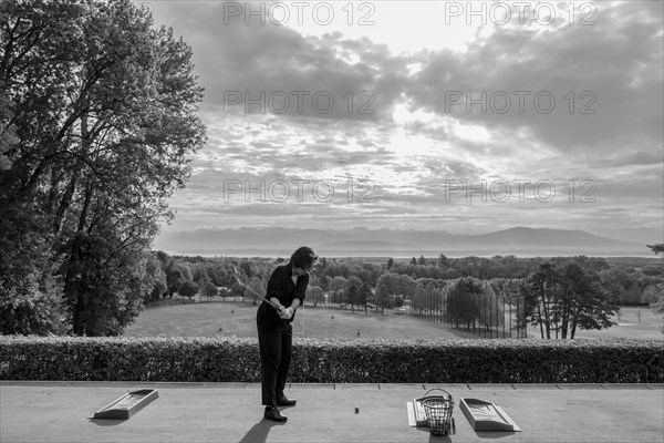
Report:
M206 90L163 234L663 229L660 1L142 2Z

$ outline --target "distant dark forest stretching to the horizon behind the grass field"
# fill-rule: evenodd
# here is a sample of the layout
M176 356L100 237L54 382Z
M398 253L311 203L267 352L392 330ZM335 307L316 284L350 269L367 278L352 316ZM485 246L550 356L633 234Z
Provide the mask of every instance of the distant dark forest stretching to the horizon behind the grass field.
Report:
M255 281L258 288L267 286L267 279L274 266L286 259L268 258L206 258L168 256L155 253L164 272L164 281L153 291L146 301L157 301L172 298L179 293L181 285L186 284L185 297L193 297L203 291L207 282L217 289L214 296L242 297L245 289L232 276L232 267L241 269L248 281ZM319 259L312 272L310 287L319 287L329 291L339 286L339 281L347 281L351 277L375 289L378 278L391 272L408 276L415 282L427 284L434 280L450 280L461 277L473 277L481 280L491 279L527 279L542 264L564 260L566 258L518 258L516 256L463 257L448 258L440 255L437 258L413 257L409 260L388 258L384 262L366 258L332 258ZM639 257L571 257L582 267L594 272L604 290L618 305L645 306L657 300L664 288L664 268L660 259ZM339 280L339 278L343 280ZM338 284L334 284L336 279ZM194 288L191 291L189 288ZM207 296L212 292L201 292ZM181 293L180 293L181 295Z

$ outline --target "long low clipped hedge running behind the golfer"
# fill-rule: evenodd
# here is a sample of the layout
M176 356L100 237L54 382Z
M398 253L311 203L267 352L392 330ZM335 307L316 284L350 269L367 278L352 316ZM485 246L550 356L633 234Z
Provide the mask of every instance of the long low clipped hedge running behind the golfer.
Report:
M294 339L291 382L662 383L661 341ZM2 380L258 382L256 339L0 338Z

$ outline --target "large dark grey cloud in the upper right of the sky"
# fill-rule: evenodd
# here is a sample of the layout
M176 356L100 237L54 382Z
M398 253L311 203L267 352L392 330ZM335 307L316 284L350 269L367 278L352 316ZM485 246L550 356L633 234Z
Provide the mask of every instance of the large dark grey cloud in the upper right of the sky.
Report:
M489 128L527 128L559 152L658 148L662 21L636 13L643 3L604 4L596 25L496 27L468 52L430 52L409 83L412 106ZM476 104L467 106L467 97Z

